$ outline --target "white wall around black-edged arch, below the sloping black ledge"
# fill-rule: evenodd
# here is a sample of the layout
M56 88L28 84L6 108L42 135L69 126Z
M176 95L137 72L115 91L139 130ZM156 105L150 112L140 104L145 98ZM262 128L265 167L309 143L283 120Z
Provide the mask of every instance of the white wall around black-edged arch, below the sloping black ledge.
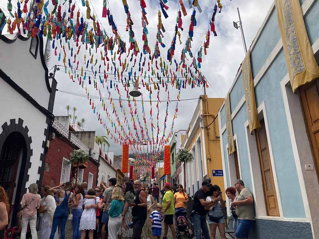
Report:
M0 51L1 50L2 48L0 48ZM1 66L1 69L6 68ZM47 91L46 88L45 90ZM42 141L45 141L44 129L48 127L46 123L47 117L1 78L0 101L0 125L4 124L4 122L10 125L10 119L15 119L16 123L18 123L19 118L21 118L24 120L23 126L28 127L28 135L32 138L31 149L33 150L33 155L30 158L31 168L28 171L29 181L26 183L26 188L28 188L30 184L36 183L40 177L38 168L42 165L40 156L44 150L42 148ZM0 134L2 131L3 129L0 127Z

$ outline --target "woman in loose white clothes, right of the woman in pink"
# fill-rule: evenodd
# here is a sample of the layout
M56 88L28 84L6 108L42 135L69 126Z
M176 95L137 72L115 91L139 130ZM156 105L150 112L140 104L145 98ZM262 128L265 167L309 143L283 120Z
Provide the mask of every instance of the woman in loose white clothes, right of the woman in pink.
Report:
M44 198L41 199L40 213L42 213L41 221L41 239L49 239L52 230L53 215L56 210L56 201L51 192L50 186L45 186L43 189ZM56 231L54 239L58 239L58 233Z

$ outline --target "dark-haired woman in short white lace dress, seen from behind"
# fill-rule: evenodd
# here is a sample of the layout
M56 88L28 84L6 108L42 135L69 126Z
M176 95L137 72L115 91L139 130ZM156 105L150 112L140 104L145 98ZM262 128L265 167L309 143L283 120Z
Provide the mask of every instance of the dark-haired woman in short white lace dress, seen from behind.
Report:
M81 239L85 239L86 230L89 230L89 239L93 239L93 233L96 228L96 208L99 206L98 204L100 204L100 198L95 197L95 190L93 188L87 191L87 196L93 196L94 198L84 199L83 205L85 209L82 213L79 226Z

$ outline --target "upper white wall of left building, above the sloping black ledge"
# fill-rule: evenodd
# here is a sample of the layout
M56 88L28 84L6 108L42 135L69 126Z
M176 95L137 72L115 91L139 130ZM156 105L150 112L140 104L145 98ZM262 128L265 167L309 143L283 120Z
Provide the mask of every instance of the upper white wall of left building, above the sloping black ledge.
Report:
M31 38L27 41L17 39L10 44L0 41L0 68L40 105L47 109L50 94L45 83L45 71L41 63L40 46L37 59L34 59L29 52L30 44Z

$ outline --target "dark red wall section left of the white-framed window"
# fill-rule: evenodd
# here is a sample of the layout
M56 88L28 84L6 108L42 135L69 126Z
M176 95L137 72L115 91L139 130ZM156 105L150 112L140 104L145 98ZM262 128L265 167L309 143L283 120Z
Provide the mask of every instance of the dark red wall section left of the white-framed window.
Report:
M63 157L68 159L74 149L71 144L57 134L54 140L50 138L50 146L45 160L46 166L49 163L49 170L47 171L48 168L45 166L42 186L49 185L52 187L60 184Z

